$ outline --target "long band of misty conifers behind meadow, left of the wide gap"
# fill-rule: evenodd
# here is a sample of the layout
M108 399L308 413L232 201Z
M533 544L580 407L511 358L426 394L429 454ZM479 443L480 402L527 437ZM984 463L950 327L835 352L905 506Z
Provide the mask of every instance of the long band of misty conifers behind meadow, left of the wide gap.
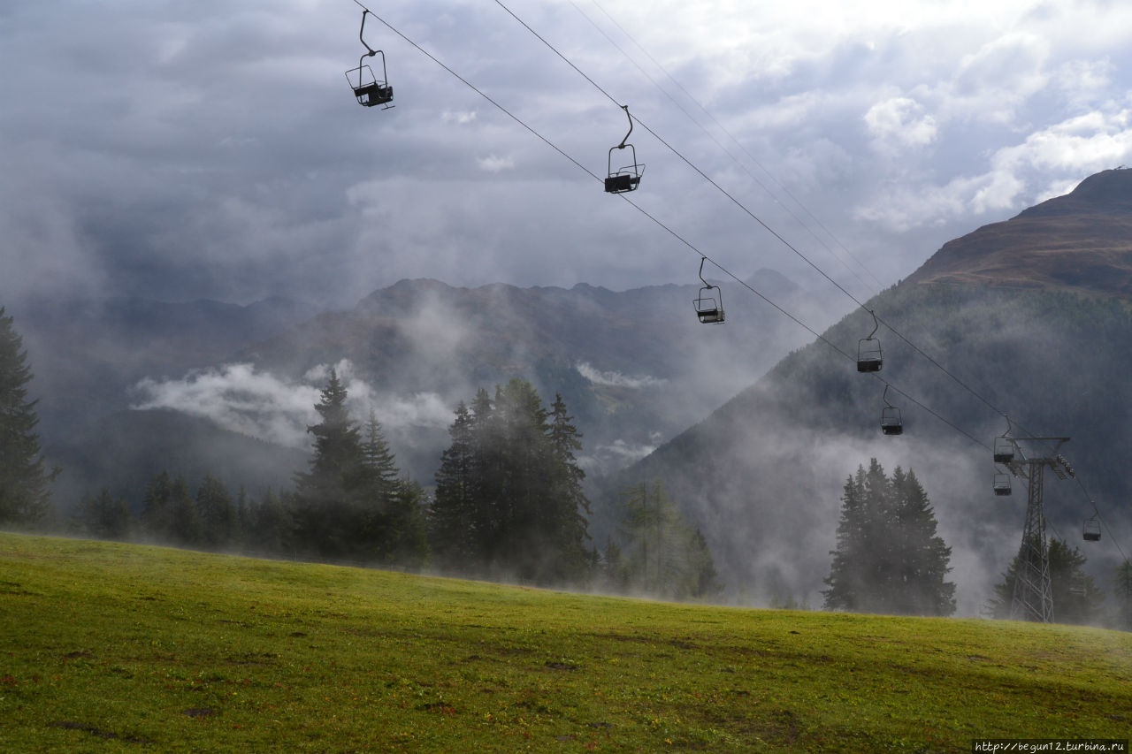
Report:
M26 391L31 379L23 341L0 308L0 526L42 529L55 516L51 483L59 471L48 468L40 447L36 402ZM102 489L83 495L67 525L71 533L102 539L432 567L537 584L680 597L718 590L703 538L677 537L687 526L669 502L661 574L642 575L632 558L606 559L623 549L635 552L638 540L652 535L634 517L632 499L627 525L617 532L621 549L612 539L606 552L592 545L585 472L576 456L582 434L560 395L544 406L535 388L518 378L497 385L494 395L479 389L470 405L455 410L432 490L401 473L378 418L370 411L357 421L348 397L331 370L314 406L319 421L308 427L311 457L293 474L292 489L252 498L208 473L194 487L163 471L147 480L134 506L137 515L126 499ZM689 582L681 558L701 564L711 577Z

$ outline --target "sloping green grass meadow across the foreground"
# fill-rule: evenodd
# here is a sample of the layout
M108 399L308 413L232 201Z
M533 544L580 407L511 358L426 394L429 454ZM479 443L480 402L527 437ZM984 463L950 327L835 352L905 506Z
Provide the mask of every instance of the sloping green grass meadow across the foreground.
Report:
M1130 727L1130 634L0 534L5 752L966 752Z

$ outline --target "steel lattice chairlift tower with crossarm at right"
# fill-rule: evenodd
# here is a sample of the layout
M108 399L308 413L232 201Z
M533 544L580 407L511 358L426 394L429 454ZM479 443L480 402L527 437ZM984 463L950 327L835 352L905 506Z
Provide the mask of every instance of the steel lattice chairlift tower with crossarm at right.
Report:
M1077 472L1057 451L1067 437L1010 437L995 438L995 463L1005 464L1010 473L1027 480L1026 525L1022 526L1022 546L1014 574L1014 593L1010 603L1011 620L1053 623L1054 600L1049 586L1049 547L1046 541L1046 513L1043 503L1045 470L1049 468L1058 479L1075 477ZM1038 448L1049 448L1043 455ZM1029 449L1029 454L1027 454Z

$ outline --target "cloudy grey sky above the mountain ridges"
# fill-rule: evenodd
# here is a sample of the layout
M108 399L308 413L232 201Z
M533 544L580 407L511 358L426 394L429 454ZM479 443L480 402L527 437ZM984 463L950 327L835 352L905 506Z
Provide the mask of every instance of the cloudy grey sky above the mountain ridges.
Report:
M498 3L368 5L607 172L625 114ZM1129 3L507 6L858 294L1132 163ZM360 19L352 0L0 1L0 303L695 282L694 251L374 19L396 106L359 106ZM640 125L629 140L642 208L740 276L827 288Z

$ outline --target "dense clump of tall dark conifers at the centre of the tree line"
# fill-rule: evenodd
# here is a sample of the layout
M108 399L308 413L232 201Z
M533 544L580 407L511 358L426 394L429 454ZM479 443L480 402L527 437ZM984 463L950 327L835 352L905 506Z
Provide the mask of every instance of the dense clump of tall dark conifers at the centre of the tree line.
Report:
M432 554L445 567L537 583L577 583L594 562L581 449L565 402L548 413L522 379L461 404L429 507Z

